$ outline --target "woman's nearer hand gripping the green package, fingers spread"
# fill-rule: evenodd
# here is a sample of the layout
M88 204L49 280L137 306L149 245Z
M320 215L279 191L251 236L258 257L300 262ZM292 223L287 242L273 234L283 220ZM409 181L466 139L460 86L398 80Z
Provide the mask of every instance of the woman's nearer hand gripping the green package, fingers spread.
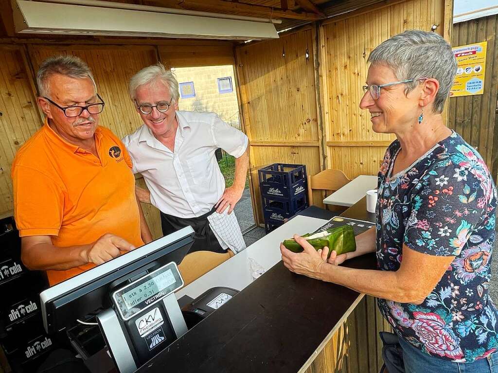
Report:
M317 251L308 241L298 235L294 235L294 240L301 245L303 252L292 252L280 244L283 264L294 273L321 279L321 270L324 265L327 265L329 248L325 247Z

